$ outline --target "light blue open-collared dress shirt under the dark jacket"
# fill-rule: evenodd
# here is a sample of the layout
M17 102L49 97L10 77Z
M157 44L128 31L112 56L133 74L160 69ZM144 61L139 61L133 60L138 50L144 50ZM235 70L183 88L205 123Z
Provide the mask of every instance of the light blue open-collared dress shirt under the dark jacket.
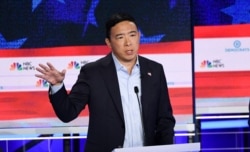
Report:
M120 94L122 99L122 109L125 120L125 140L123 147L143 146L143 126L141 121L140 107L134 88L137 87L139 102L141 97L140 66L137 60L131 74L125 66L120 64L114 54L112 54L116 72L118 75Z

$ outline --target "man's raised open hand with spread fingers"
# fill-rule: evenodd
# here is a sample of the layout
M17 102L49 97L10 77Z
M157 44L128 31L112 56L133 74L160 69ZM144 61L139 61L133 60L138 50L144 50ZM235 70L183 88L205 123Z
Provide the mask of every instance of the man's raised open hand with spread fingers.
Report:
M49 62L47 65L39 64L36 70L40 72L40 74L35 74L35 76L48 81L51 85L61 84L66 73L65 69L60 72Z

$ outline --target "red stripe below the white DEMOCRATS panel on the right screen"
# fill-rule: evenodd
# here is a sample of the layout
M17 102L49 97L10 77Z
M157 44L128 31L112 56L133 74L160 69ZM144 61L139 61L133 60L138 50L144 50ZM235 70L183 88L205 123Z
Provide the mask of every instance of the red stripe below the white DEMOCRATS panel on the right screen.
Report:
M250 71L196 72L196 97L249 97L249 78Z

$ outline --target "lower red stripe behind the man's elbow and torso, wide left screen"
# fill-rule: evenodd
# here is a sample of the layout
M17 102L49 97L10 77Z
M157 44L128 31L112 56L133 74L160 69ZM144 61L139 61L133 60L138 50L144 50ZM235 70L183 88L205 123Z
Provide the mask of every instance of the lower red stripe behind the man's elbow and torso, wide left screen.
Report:
M169 89L174 114L191 114L191 88ZM48 92L1 92L0 120L56 117ZM88 116L86 108L81 116Z

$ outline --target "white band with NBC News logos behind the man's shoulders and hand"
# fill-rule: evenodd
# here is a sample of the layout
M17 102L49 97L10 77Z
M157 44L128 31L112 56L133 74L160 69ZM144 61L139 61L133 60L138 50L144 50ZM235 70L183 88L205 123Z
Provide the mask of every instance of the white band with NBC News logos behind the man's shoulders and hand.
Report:
M190 68L191 54L145 54L144 56L163 64L168 86L170 88L192 86L192 74ZM38 84L46 82L40 82L43 80L39 80L35 77L35 74L38 73L35 70L38 64L46 64L47 62L51 62L58 70L67 70L64 83L67 89L71 89L77 79L81 66L101 57L103 56L3 58L1 59L1 63L3 63L2 65L4 66L0 67L0 91L48 90L48 86L46 86L46 84Z

